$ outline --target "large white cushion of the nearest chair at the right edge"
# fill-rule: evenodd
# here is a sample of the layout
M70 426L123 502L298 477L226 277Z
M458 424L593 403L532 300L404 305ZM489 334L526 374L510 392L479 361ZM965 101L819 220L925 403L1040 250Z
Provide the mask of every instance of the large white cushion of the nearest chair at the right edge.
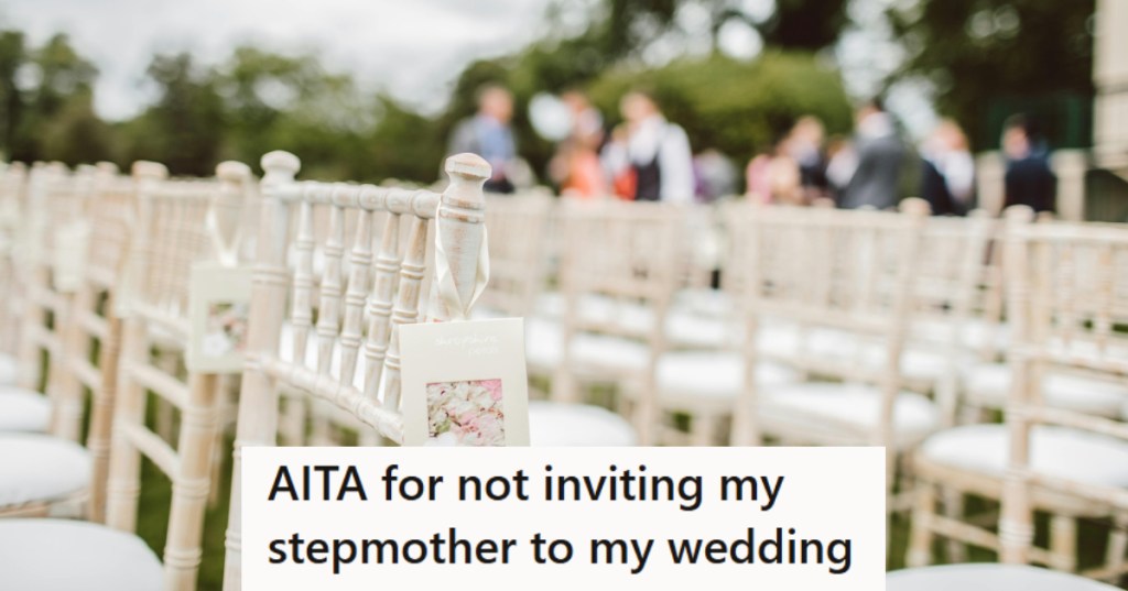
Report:
M929 461L1002 477L1010 449L1007 426L968 425L942 431L920 446ZM1037 426L1030 461L1042 474L1128 487L1128 442L1060 426ZM1084 458L1084 461L1078 461Z

